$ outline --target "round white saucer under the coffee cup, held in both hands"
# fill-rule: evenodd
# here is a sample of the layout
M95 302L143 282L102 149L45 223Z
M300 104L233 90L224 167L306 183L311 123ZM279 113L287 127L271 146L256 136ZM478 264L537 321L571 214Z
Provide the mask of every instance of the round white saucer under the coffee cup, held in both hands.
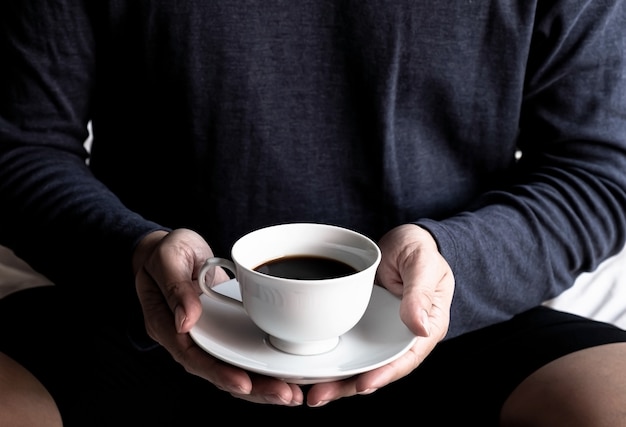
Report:
M215 288L239 299L237 282ZM333 350L298 356L274 348L243 308L201 296L203 313L190 334L205 351L231 365L296 384L340 380L385 365L404 354L416 337L402 323L400 300L374 286L361 321L340 337Z

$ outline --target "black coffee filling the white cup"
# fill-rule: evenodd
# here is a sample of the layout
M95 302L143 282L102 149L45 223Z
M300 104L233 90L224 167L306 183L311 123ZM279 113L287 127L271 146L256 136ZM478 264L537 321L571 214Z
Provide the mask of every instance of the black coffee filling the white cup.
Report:
M332 279L356 272L354 267L342 261L311 255L273 259L264 262L254 270L270 276L301 280Z

